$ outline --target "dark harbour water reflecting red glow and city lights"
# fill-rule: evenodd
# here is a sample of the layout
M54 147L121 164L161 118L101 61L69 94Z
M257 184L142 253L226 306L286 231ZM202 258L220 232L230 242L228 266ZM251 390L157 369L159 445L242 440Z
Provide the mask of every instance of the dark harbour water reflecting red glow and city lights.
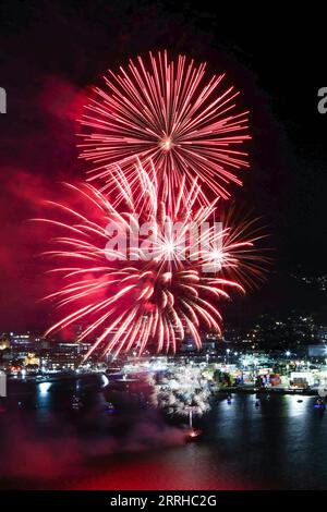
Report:
M80 411L72 409L75 393ZM219 397L193 443L158 413L133 403L110 412L107 400L108 388L85 379L10 382L0 414L0 487L327 488L327 416L314 397L271 395L259 405L251 394L233 395L230 405Z

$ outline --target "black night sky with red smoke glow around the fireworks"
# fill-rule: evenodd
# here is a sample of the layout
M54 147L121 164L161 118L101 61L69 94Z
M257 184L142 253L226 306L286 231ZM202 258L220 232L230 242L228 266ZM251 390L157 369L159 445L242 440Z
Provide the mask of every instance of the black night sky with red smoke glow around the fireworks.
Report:
M227 72L251 110L251 170L233 195L268 227L274 264L237 313L296 304L288 277L299 266L327 273L327 114L317 111L317 90L327 87L326 12L296 7L288 15L284 2L253 4L0 1L0 86L8 94L0 115L0 331L51 321L51 307L37 302L50 287L38 256L47 231L27 219L40 215L40 199L60 196L60 181L85 176L74 134L89 86L149 50L183 52L209 72Z

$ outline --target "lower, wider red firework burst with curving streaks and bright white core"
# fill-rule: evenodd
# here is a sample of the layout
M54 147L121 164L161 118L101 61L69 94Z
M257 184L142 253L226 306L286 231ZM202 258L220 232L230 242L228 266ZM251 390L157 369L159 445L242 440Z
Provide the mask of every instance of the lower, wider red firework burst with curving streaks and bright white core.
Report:
M97 336L87 356L99 346L113 354L132 348L142 353L148 344L156 344L158 352L175 351L186 334L201 346L202 330L220 332L217 302L229 298L228 289L244 292L242 282L232 279L240 276L235 269L243 260L249 273L246 264L258 258L256 236L244 240L231 227L216 231L207 223L217 202L196 206L196 180L190 188L182 180L173 204L167 206L158 200L155 171L138 164L135 173L137 183L131 186L116 168L119 194L113 200L90 184L69 185L83 207L50 203L58 210L56 218L39 219L63 231L46 254L56 260L52 272L66 284L47 298L71 312L47 334L87 321L78 340ZM203 225L194 235L194 227ZM209 271L208 264L215 264Z

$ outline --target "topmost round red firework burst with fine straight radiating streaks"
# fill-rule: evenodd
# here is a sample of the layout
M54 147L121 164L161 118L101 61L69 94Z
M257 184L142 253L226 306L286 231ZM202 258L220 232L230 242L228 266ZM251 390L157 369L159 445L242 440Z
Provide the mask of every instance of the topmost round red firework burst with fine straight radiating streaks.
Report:
M81 120L78 146L94 163L90 180L101 178L110 190L112 164L119 164L133 181L138 157L143 166L154 163L160 186L173 190L183 176L187 185L197 176L203 202L208 191L229 197L228 184L241 184L238 173L249 167L240 148L251 138L247 112L237 107L239 93L222 85L225 75L206 80L205 68L183 56L170 61L165 51L109 71Z

